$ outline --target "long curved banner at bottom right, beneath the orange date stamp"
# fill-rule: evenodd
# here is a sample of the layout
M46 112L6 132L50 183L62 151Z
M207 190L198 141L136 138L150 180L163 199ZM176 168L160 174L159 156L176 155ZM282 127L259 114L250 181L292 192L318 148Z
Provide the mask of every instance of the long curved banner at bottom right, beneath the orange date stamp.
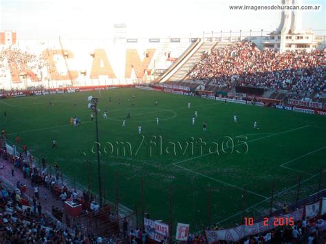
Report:
M303 218L303 208L296 210L290 214L285 214L277 218L293 218L294 221L299 221ZM206 239L209 244L215 243L217 241L239 241L245 236L250 236L254 234L259 234L267 230L272 230L278 226L274 225L274 219L276 217L271 217L268 221L268 225L265 225L264 221L259 223L254 223L253 225L241 225L236 228L228 230L206 230ZM285 221L284 221L285 223Z

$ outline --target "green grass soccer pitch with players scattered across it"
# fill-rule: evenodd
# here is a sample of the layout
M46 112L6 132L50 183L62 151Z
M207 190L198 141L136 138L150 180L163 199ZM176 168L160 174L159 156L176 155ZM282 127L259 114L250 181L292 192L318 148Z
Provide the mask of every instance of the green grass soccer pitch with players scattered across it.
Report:
M298 175L300 197L318 190L318 172L325 166L326 118L317 115L126 88L0 100L2 115L3 111L8 114L6 120L1 119L1 129L7 130L10 142L20 135L21 145L26 144L34 156L45 157L51 164L58 162L59 170L84 186L86 153L91 190L96 192L96 155L91 153L95 122L90 121L91 111L87 109L90 95L99 98L101 164L106 166L107 199L114 201L116 197L118 171L120 203L131 209L137 205L140 212L143 178L144 208L153 219L169 223L171 187L174 222L190 223L192 232L202 230L208 221L224 227L241 223L243 203L246 217L268 211L272 181L274 208L296 200ZM106 107L107 120L102 118ZM195 111L198 117L192 125ZM122 127L127 113L131 113L131 119ZM233 115L237 115L237 123ZM82 120L81 126L69 125L69 118L74 116ZM253 129L254 121L259 129ZM138 134L138 126L142 126L142 135ZM58 148L52 149L53 138ZM247 153L241 140L247 143ZM120 147L116 146L112 155L110 145L114 147L116 142ZM204 142L206 146L201 150L199 145ZM216 147L218 153L214 153ZM322 186L326 186L325 177ZM244 189L247 193L243 201Z

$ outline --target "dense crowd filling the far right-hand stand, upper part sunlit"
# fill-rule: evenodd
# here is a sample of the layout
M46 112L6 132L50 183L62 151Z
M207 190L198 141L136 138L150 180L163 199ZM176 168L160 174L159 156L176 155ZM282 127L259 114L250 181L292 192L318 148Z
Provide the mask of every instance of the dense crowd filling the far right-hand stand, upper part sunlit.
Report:
M204 54L189 76L209 80L211 84L289 89L294 93L323 91L326 67L325 52L261 51L251 42L242 42Z

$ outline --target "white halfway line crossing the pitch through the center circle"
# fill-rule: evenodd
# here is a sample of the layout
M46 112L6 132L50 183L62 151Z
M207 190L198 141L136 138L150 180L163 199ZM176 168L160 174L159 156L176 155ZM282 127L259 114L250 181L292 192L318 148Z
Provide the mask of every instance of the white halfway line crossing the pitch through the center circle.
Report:
M1 102L1 101L0 101ZM222 104L221 102L214 102L214 103L210 103L211 104ZM205 106L207 106L208 104L205 104ZM193 106L193 107L202 107L204 105L198 105L198 106ZM112 110L112 111L109 111L110 112L113 112L113 111L122 111L122 110L126 110L128 108L125 108L125 109L115 109L115 110ZM149 108L139 108L139 109L149 109ZM151 112L146 112L146 113L135 113L133 114L133 116L136 116L136 115L144 115L144 114L150 114L150 113L160 113L160 111L173 111L174 110L181 110L181 109L188 109L188 107L181 107L181 108L178 108L178 109L173 109L173 110L169 110L169 109L160 109L160 110L155 110L155 111L151 111ZM175 112L174 112L175 113ZM117 117L118 118L124 118L122 116L119 116ZM110 118L108 118L107 120L109 120ZM113 118L114 119L114 118ZM102 119L102 120L98 120L98 121L103 121L105 119ZM155 121L155 119L153 119L153 121ZM82 124L88 124L88 123L91 123L92 121L87 121L87 122L83 122ZM45 128L39 128L39 129L32 129L32 130L28 130L28 131L20 131L20 132L15 132L15 133L9 133L8 135L19 135L19 134L22 134L22 133L29 133L29 132L34 132L34 131L46 131L46 130L49 130L49 129L56 129L56 128L61 128L61 127L65 127L65 126L72 126L71 124L62 124L62 125L58 125L58 126L50 126L50 127L45 127Z

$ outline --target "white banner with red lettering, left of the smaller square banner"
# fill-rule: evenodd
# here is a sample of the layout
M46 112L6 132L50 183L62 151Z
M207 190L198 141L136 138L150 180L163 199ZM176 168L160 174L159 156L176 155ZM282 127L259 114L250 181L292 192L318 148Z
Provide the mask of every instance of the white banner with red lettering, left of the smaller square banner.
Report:
M144 228L149 238L155 241L162 241L169 237L169 225L161 221L152 221L144 218Z

